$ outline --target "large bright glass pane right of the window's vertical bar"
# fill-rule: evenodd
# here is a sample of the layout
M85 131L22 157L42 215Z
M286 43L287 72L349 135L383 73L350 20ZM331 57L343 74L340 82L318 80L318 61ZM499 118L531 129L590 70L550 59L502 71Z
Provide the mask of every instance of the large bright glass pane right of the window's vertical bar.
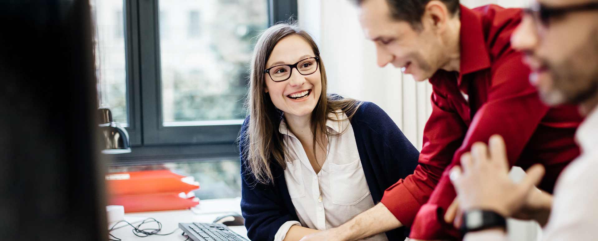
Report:
M267 1L170 0L159 7L179 16L160 26L171 30L160 40L160 124L242 123L247 66L255 36L268 27Z

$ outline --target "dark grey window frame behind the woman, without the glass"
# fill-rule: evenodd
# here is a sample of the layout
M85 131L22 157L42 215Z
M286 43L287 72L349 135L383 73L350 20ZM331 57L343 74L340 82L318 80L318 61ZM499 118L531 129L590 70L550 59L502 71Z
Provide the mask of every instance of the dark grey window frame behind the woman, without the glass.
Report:
M113 166L213 161L239 157L240 125L163 126L158 0L124 0L127 116L132 152ZM269 0L269 24L297 19L297 0ZM143 39L143 41L141 41Z

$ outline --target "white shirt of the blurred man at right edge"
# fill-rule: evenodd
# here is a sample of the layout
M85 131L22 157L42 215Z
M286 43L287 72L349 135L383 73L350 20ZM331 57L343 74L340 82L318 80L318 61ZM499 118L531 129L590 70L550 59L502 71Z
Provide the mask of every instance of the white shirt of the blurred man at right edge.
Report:
M596 240L598 237L598 107L585 118L575 139L581 155L559 176L544 241ZM486 234L483 234L486 233ZM468 234L465 241L504 241L504 234Z

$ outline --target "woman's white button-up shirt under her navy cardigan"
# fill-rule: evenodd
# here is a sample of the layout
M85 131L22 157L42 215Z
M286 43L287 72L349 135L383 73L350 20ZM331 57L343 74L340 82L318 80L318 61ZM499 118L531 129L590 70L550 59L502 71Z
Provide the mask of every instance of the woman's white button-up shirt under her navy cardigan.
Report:
M338 113L339 119L347 118L343 112ZM329 116L337 118L334 113ZM328 157L321 171L316 174L301 142L288 130L284 121L280 122L279 131L283 134L285 148L288 148L284 172L286 186L299 222L288 221L280 226L274 241L282 241L292 225L326 230L338 227L374 206L351 123L349 120L340 123L328 120L326 126L334 133L344 132L338 137L329 138ZM318 201L319 186L322 202ZM388 239L386 234L381 233L367 240Z

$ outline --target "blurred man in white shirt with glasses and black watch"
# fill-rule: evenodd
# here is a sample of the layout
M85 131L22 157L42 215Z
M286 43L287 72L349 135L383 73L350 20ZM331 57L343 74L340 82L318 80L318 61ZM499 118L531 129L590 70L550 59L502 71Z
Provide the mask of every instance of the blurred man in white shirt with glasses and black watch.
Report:
M464 210L466 241L507 240L504 219L522 213L542 223L544 240L594 240L598 236L598 1L539 0L524 14L512 46L526 55L530 82L544 103L579 104L585 120L576 131L581 156L557 180L552 196L533 189L544 169L533 166L524 181L508 179L505 143L490 138L462 155L450 179ZM508 144L508 143L507 143ZM532 212L530 212L532 211Z

